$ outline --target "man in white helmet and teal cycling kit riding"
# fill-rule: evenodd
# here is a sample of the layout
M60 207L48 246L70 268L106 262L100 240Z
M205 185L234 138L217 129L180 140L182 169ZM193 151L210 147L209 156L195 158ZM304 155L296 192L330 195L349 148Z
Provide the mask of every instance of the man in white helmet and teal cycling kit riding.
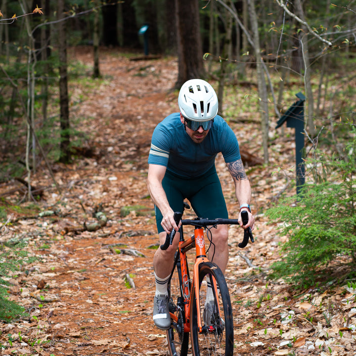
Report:
M148 157L148 191L155 205L160 244L172 229L174 212L182 211L183 200L189 200L198 217L228 218L221 183L215 168L215 157L223 154L227 169L235 184L235 195L241 211L248 211L249 221L244 228L254 229L251 214L251 186L241 160L237 138L218 113L218 97L213 87L201 79L187 81L178 94L178 113L167 116L152 134ZM212 246L209 259L224 272L228 261L228 227L218 225L211 230ZM156 293L153 320L160 329L169 329L167 284L174 255L178 247L178 233L167 250L160 248L153 258ZM210 311L213 292L208 289L204 316ZM209 309L210 308L210 309ZM209 319L209 317L207 317Z

